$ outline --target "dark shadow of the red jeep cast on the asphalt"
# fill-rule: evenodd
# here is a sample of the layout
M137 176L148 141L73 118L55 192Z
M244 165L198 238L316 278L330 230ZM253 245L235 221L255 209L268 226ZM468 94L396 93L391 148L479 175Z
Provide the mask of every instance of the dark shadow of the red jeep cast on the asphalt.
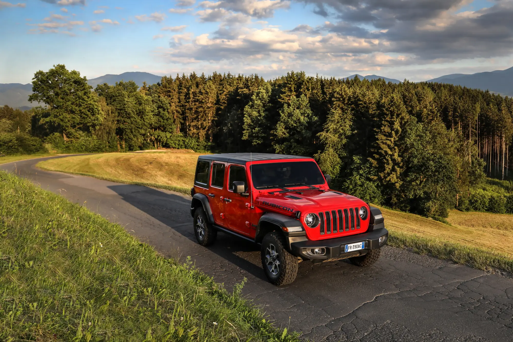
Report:
M193 243L197 243L192 230L190 199L146 186L139 186L141 191L133 191L133 187L129 184L108 186L127 203L162 222ZM159 237L148 238L147 242L152 245L162 245L163 241L155 239ZM207 249L253 276L265 280L260 266L258 244L220 232L217 241ZM186 251L186 249L182 250ZM255 260L255 255L258 255L258 260ZM186 255L182 255L184 256Z

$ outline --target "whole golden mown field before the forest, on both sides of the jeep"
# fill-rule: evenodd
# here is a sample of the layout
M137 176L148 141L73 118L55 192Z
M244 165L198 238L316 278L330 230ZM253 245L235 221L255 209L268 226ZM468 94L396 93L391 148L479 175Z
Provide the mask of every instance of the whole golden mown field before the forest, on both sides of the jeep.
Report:
M188 194L199 155L190 151L110 153L47 160L37 166ZM511 268L513 215L451 210L447 218L449 225L386 208L382 208L382 212L385 225L391 233L392 245L468 263L481 269L489 266L507 270Z

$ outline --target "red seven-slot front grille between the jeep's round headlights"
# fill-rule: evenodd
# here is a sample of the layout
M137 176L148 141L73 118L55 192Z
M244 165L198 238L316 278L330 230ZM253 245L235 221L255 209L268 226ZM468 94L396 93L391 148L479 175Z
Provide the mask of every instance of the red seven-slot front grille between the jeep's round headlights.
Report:
M319 213L319 232L335 234L360 229L360 210L356 208L338 209Z

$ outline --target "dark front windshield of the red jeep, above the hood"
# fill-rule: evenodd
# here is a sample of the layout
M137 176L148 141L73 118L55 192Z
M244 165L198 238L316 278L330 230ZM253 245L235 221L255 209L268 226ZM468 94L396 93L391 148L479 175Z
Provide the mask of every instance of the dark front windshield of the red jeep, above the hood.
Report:
M255 164L250 170L255 188L324 184L321 170L313 161Z

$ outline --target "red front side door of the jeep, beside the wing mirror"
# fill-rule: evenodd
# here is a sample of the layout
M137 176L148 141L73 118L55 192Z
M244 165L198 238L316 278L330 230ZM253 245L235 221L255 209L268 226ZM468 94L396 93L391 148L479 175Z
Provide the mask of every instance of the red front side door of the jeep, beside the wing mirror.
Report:
M250 225L251 210L248 208L249 196L247 194L233 193L233 182L243 181L244 191L247 192L248 181L246 168L242 165L229 165L228 169L228 194L225 206L228 227L249 237L254 237L255 230Z

